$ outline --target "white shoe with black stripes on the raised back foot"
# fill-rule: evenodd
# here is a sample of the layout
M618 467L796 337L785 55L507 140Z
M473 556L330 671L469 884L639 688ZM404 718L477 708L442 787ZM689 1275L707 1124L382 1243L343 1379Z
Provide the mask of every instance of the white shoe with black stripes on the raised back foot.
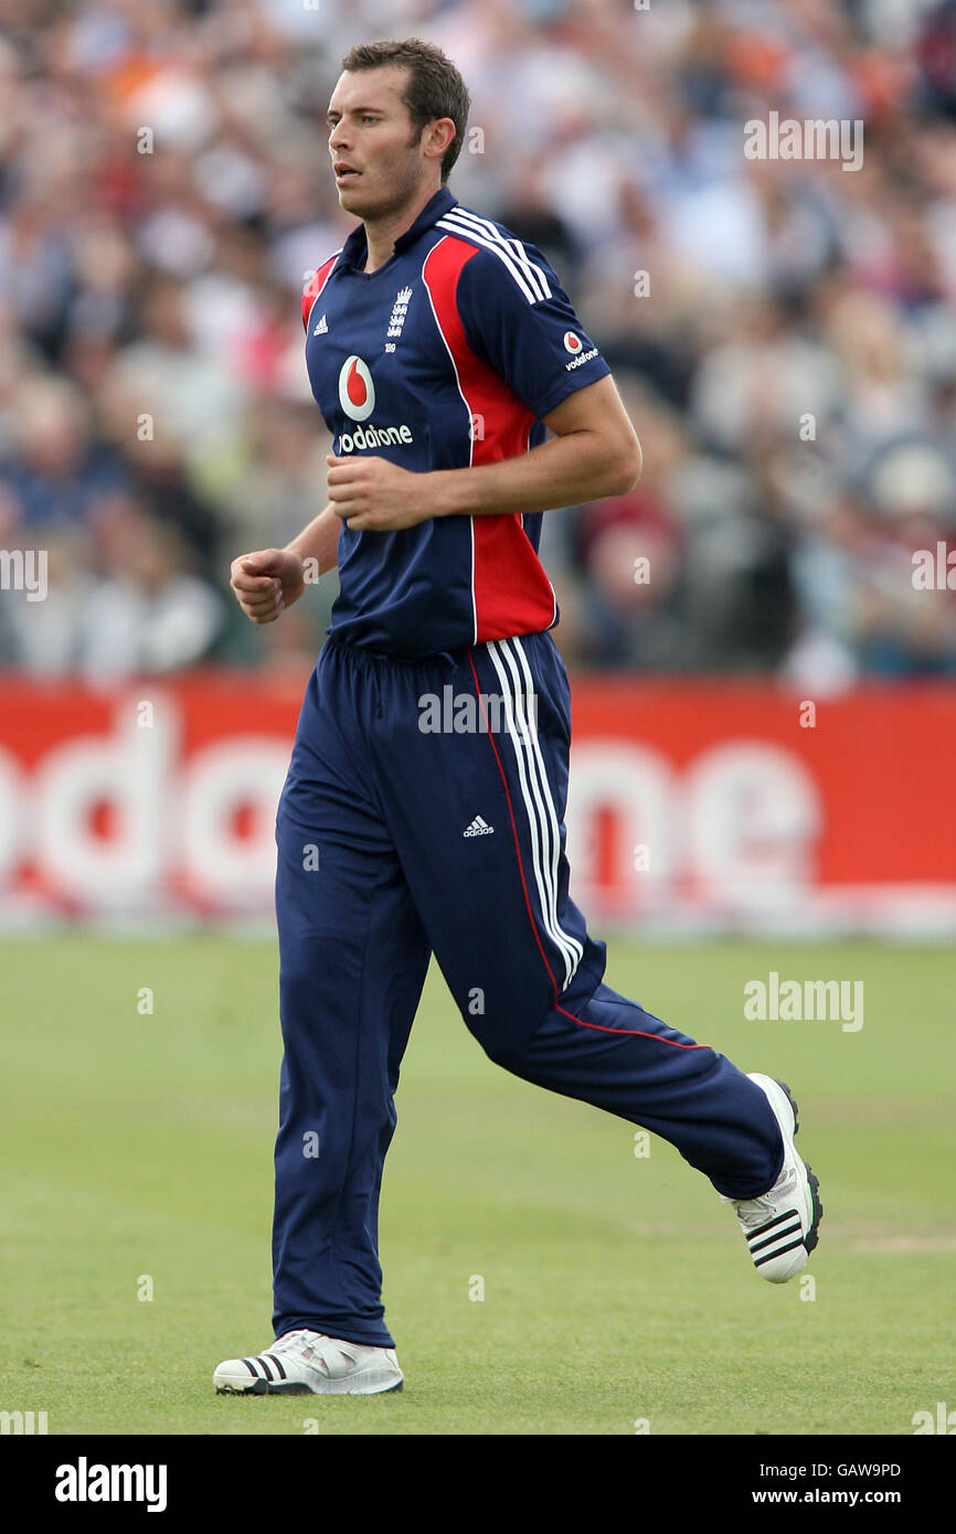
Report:
M816 1246L822 1220L819 1183L793 1146L799 1124L787 1083L757 1071L747 1075L767 1094L776 1115L784 1140L784 1164L773 1187L760 1198L726 1198L721 1193L721 1201L733 1204L760 1276L770 1284L786 1284L803 1273Z

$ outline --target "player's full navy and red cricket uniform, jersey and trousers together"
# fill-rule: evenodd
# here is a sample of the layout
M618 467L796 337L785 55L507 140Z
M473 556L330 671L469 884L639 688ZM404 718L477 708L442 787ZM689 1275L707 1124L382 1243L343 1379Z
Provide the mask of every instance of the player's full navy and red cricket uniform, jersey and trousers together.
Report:
M359 224L310 281L308 376L336 454L496 463L609 368L542 253L436 192L376 272ZM540 515L339 535L341 595L276 821L284 1060L276 1335L391 1347L377 1203L434 953L514 1074L664 1137L732 1198L781 1132L729 1060L603 983L568 893L568 678Z

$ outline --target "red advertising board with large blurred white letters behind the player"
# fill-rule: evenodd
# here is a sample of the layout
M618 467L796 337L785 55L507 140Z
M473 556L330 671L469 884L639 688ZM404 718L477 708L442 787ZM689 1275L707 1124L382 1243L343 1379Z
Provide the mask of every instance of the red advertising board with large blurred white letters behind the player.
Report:
M269 919L304 676L0 676L0 917ZM572 894L626 925L956 930L956 689L574 680Z

